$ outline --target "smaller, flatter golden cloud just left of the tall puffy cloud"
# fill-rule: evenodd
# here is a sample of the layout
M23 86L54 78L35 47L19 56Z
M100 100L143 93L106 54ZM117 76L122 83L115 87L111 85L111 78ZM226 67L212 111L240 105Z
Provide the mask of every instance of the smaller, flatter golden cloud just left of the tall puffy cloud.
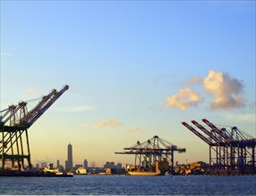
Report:
M201 94L193 91L191 88L183 88L179 93L166 98L164 103L166 108L179 108L180 110L187 110L188 107L196 106L201 102Z

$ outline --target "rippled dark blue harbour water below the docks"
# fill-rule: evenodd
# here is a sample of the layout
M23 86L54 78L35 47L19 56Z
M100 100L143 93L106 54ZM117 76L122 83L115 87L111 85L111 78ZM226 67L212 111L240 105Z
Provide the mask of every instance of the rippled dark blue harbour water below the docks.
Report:
M0 177L1 194L255 195L256 176Z

